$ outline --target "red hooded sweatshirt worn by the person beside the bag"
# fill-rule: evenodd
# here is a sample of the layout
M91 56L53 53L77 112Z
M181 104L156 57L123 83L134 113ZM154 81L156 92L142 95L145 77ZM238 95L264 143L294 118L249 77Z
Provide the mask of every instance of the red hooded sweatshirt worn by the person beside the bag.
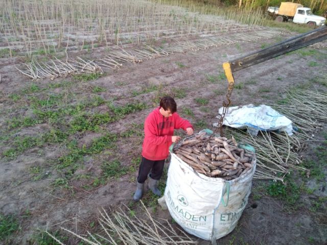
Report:
M164 117L159 109L160 106L154 109L144 123L142 156L152 161L164 160L168 157L174 129L193 129L192 124L176 112L172 116Z

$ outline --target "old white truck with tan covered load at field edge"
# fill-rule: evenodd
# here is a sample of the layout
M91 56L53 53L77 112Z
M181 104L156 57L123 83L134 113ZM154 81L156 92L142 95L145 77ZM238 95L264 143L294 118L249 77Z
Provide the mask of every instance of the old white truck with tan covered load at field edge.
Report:
M267 14L279 22L291 21L299 24L308 24L310 27L323 26L326 21L324 17L312 14L310 8L291 2L283 2L279 8L268 7Z

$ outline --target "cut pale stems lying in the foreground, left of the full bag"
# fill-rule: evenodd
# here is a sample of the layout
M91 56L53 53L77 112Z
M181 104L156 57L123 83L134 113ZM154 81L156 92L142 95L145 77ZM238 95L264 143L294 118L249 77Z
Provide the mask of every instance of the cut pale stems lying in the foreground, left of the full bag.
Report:
M142 218L137 217L137 215L129 215L132 213L132 210L125 205L123 208L119 208L114 212L110 210L110 214L102 209L99 217L99 223L102 227L101 235L87 232L90 238L85 238L85 236L78 235L65 228L61 227L61 229L80 238L86 244L91 245L196 244L194 238L190 237L182 230L172 227L167 219L152 218L143 202L140 202L143 210L141 212L143 215ZM63 244L53 235L50 233L48 234L59 242L59 244ZM105 243L102 243L99 240L105 241Z

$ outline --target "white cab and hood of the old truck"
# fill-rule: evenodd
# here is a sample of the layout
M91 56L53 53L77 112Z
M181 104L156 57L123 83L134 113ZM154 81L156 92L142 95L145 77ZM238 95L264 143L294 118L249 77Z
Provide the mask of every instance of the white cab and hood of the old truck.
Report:
M309 24L309 26L323 26L325 23L325 18L322 16L312 14L309 8L297 8L296 13L293 17L294 23L299 24Z

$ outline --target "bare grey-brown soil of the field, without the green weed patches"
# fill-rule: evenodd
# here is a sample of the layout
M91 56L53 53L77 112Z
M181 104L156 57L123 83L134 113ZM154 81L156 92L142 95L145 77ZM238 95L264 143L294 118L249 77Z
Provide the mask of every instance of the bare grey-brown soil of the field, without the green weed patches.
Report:
M0 127L1 138L0 153L12 148L15 136L40 136L56 128L51 121L42 121L29 127L16 127L10 129L9 121L14 117L33 116L28 96L42 96L45 99L51 94L61 94L63 103L74 105L79 101L88 101L94 95L101 96L104 100L112 100L115 105L126 105L141 101L147 104L147 109L136 111L124 118L101 125L98 132L78 132L68 137L76 140L77 147L89 147L91 142L111 133L118 135L116 149L106 149L99 154L86 155L78 161L78 168L69 178L66 186L54 185L58 178L65 177L65 171L56 168L58 158L69 152L67 145L62 143L35 145L28 148L12 160L0 158L0 212L14 214L18 217L20 230L14 234L8 244L33 243L32 236L37 229L57 230L59 226L77 230L85 234L86 230L94 227L90 224L96 220L98 209L119 206L122 203L131 204L137 176L137 159L141 154L143 130L142 124L147 114L156 106L156 99L162 94L174 93L180 114L188 118L200 131L203 128L212 128L216 122L218 109L222 106L227 82L225 79L216 79L210 82L208 76L219 76L223 73L222 63L249 52L260 50L263 45L275 43L278 38L291 37L292 33L280 33L282 36L262 38L257 42L242 42L232 45L212 47L208 50L173 54L167 57L146 60L141 64L124 65L119 70L108 71L105 76L89 82L74 81L72 78L31 81L21 75L16 69L19 58L0 60ZM235 74L237 84L242 84L239 89L234 89L232 105L266 104L270 105L286 96L285 90L295 85L307 86L311 89L320 88L321 85L312 82L316 76L326 74L327 68L327 43L313 45L306 50L315 50L313 55L292 53L279 58L268 60L261 64L238 71ZM318 54L318 55L317 55ZM101 50L92 53L100 56ZM182 66L180 65L182 64ZM73 85L49 88L54 83L74 81ZM42 91L24 92L31 85L44 88ZM135 91L159 86L155 91L136 94ZM92 93L96 86L105 91ZM179 96L180 90L185 91L185 96ZM177 92L176 92L177 91ZM10 95L20 94L20 99L13 102ZM179 99L178 99L179 98ZM207 99L207 105L199 105L196 98ZM58 104L58 107L60 105ZM106 104L92 107L89 111L105 113L108 111ZM192 113L190 113L192 112ZM72 120L67 116L66 122ZM61 125L65 125L64 122ZM324 130L326 126L324 125ZM61 128L63 132L66 128ZM121 134L127 130L134 130L128 137ZM323 131L320 131L323 132ZM324 131L325 132L325 131ZM183 135L183 132L178 131ZM318 133L318 136L319 137ZM321 137L321 136L320 136ZM304 154L310 156L312 149L319 145L312 143ZM119 178L106 179L104 183L92 187L96 177L101 177L105 162L118 159L124 167L134 167ZM39 173L31 171L38 166ZM35 180L34 177L42 175ZM90 178L77 178L90 176ZM76 177L76 178L75 178ZM325 177L325 181L327 181ZM253 181L253 188L265 185L267 182ZM90 186L84 188L85 185ZM308 183L312 189L319 189L315 197L326 197L327 190L323 182L312 180ZM303 198L308 198L302 194ZM149 198L147 195L146 198ZM152 210L157 217L170 218L169 212ZM29 215L26 215L26 214ZM327 244L326 213L314 213L307 207L297 210L286 208L281 200L262 195L258 200L250 196L239 225L235 231L218 240L218 244ZM75 243L73 238L70 243ZM207 244L199 240L200 244Z

